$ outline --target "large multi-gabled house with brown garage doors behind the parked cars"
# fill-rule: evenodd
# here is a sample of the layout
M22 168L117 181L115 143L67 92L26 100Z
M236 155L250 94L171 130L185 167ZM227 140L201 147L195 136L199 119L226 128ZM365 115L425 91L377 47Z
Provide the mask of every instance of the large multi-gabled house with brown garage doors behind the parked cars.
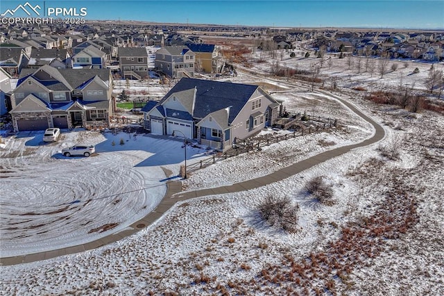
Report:
M114 114L110 69L24 69L11 106L14 131L107 125Z

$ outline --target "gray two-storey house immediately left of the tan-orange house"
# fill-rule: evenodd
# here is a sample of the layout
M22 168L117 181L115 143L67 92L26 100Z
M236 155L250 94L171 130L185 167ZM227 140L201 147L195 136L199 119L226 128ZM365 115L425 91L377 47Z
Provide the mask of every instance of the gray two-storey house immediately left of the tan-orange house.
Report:
M163 47L155 53L155 68L174 79L193 77L195 56L186 46Z

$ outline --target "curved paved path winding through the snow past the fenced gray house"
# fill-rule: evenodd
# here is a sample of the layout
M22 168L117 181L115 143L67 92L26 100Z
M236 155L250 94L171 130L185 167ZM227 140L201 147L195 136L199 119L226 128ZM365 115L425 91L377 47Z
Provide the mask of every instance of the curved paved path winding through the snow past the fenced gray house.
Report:
M332 94L329 94L332 96ZM266 186L270 183L274 183L276 181L280 181L282 179L286 179L289 176L292 176L294 174L298 174L302 172L303 170L307 170L309 167L313 167L314 165L318 165L319 163L323 163L324 161L329 160L330 158L334 158L336 156L340 156L341 154L345 154L351 149L355 149L357 147L364 147L367 145L371 145L375 142L378 142L379 140L382 140L384 138L384 129L382 126L374 122L370 117L364 115L364 113L361 113L360 110L358 110L355 106L348 103L347 101L344 101L343 99L333 96L335 99L338 99L343 103L345 106L350 108L354 113L362 117L364 120L369 122L373 127L375 128L375 134L372 138L369 138L367 140L364 140L362 142L359 142L357 144L348 145L344 147L339 147L336 149L332 149L329 151L324 151L321 154L317 154L316 156L312 156L310 158L307 158L303 161L300 161L298 163L294 163L293 165L290 165L289 167L284 167L281 170L278 170L276 172L273 172L271 174L268 174L266 176L262 176L256 179L251 179L248 181L243 181L240 183L234 183L230 186L222 186L218 188L210 188L210 189L203 189L203 190L196 190L196 191L190 191L190 192L182 192L182 183L180 181L174 181L168 184L168 190L165 197L160 202L159 206L155 208L154 211L146 215L142 220L139 220L135 223L133 223L130 227L131 229L121 231L119 233L114 233L110 236L106 236L105 238L101 238L99 240L95 240L93 242L88 242L83 245L78 245L74 247L67 247L64 249L57 249L49 252L41 252L37 254L29 254L24 256L14 256L14 257L8 257L8 258L0 258L0 265L15 265L19 263L30 263L34 261L41 261L49 258L54 258L57 256L67 255L67 254L74 254L78 252L84 252L89 249L95 249L97 247L101 247L103 245L108 245L111 242L116 242L117 240L121 240L122 238L125 238L126 236L130 236L131 234L139 231L140 229L143 229L144 227L151 225L153 222L155 222L157 219L162 217L162 215L167 212L176 202L180 202L186 199L191 199L194 197L202 197L205 195L219 195L229 192L239 192L244 190L249 190L253 188L258 188L261 186ZM168 172L166 172L168 175ZM174 196L174 198L172 198Z

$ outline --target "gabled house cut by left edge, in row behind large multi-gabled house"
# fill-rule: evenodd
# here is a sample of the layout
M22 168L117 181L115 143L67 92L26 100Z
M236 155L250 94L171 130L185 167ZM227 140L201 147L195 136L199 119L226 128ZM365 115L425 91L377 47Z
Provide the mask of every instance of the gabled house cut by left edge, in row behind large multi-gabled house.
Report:
M0 47L0 67L10 76L19 76L27 64L28 56L22 47Z

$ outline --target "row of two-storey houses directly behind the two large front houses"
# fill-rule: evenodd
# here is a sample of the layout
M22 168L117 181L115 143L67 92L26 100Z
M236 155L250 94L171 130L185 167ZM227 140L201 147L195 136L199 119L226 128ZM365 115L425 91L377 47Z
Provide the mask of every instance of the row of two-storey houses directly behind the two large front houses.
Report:
M112 47L111 51L105 50L103 44L89 40L71 49L34 48L13 40L0 44L0 67L11 76L19 76L26 67L38 68L42 65L58 69L109 67L119 69L123 78L140 80L148 76L148 69L157 69L167 76L180 78L183 73L194 76L196 71L217 72L222 62L219 49L214 44Z

